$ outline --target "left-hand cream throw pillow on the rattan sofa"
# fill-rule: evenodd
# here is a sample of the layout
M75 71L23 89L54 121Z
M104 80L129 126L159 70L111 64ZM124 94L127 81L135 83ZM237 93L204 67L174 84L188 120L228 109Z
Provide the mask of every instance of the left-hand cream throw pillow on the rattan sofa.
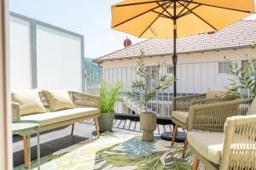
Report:
M38 89L13 90L12 100L20 104L20 116L46 111L39 97Z

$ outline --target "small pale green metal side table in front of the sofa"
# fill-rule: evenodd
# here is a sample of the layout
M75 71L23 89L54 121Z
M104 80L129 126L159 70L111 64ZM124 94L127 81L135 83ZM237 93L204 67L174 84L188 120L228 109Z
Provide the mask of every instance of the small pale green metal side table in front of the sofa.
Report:
M40 134L40 122L38 121L14 121L12 123L12 131L13 134L19 135L27 135L27 149L28 149L28 169L31 170L31 148L30 148L30 138L32 132L37 132L38 138L38 170L40 169L40 141L39 141L39 134Z

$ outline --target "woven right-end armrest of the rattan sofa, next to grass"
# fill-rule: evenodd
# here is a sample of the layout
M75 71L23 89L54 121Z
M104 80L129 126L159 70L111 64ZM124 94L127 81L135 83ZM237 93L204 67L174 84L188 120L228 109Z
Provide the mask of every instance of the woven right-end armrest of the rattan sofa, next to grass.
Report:
M100 107L100 97L92 94L72 92L75 107Z

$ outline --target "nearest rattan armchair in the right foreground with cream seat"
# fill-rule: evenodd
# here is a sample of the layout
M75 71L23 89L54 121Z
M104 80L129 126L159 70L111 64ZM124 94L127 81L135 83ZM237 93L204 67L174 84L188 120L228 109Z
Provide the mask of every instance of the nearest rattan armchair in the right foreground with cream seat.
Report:
M188 141L206 169L256 169L256 115L247 115L253 99L189 108ZM255 112L256 114L256 112Z

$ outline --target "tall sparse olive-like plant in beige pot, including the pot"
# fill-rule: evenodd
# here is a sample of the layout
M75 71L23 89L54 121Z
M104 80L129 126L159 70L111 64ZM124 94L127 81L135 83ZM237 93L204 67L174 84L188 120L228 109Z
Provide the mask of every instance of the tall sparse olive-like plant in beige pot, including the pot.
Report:
M139 98L141 107L140 127L143 130L143 140L149 142L154 140L154 130L156 129L157 116L154 111L150 111L148 109L148 101L154 99L157 91L169 88L175 79L174 77L162 76L154 87L148 87L148 83L155 72L147 71L143 54L143 51L141 51L141 56L137 61L137 81L132 82L132 90L127 94L133 99ZM158 67L160 66L161 65L159 64Z

